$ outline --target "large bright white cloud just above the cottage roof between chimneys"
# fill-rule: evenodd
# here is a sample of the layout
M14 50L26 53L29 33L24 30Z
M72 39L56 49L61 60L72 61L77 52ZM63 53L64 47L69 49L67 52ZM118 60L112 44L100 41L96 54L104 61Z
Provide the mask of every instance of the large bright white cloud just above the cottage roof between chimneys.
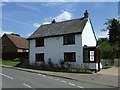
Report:
M70 20L72 18L72 13L63 11L60 15L55 17L56 21Z

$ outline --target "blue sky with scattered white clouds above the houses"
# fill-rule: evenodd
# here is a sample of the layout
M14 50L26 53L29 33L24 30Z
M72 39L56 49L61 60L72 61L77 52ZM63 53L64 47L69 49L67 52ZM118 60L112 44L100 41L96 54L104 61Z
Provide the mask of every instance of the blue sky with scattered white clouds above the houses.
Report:
M103 25L107 19L118 18L118 2L2 2L3 33L17 33L28 38L42 24L77 19L88 10L97 38L108 37Z

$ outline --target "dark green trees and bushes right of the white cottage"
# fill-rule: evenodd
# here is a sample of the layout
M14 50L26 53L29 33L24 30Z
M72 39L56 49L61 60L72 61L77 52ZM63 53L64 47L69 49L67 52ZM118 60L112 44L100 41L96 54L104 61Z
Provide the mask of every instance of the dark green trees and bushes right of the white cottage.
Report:
M104 25L107 25L107 28L103 29L103 31L109 30L109 39L98 39L98 45L101 47L101 56L103 59L114 59L120 51L120 21L108 19Z

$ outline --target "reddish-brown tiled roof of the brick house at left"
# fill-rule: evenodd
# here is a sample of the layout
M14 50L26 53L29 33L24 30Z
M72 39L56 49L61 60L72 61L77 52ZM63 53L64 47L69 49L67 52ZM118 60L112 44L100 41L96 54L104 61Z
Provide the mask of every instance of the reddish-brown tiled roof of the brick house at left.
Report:
M28 41L26 38L5 34L17 48L28 49Z

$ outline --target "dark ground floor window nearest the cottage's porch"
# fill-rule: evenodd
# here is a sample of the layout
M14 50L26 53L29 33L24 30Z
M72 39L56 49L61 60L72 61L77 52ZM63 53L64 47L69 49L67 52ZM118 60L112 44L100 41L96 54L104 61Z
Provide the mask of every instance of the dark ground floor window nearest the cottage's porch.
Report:
M76 62L76 53L75 52L65 52L64 53L65 62Z

